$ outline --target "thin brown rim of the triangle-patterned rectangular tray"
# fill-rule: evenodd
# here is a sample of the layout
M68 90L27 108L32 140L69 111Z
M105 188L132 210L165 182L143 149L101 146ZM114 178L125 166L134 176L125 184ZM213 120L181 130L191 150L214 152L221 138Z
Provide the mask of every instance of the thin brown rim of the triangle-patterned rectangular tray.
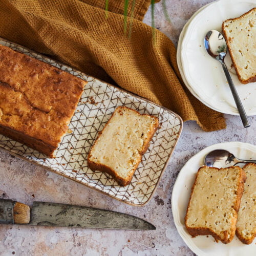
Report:
M161 106L161 105L156 104L156 103L154 103L153 101L148 100L148 99L146 99L146 98L143 98L143 97L141 97L141 96L139 96L139 95L137 95L137 94L131 93L131 92L126 91L126 90L124 90L124 89L122 89L122 88L120 88L120 87L114 86L114 85L111 84L111 83L105 82L105 81L103 81L103 80L101 80L101 79L98 79L98 78L96 78L96 77L93 77L93 76L91 76L91 75L87 75L86 73L81 72L81 71L77 70L76 68L71 67L70 65L66 64L65 62L61 62L61 61L56 60L56 59L54 59L54 58L52 58L52 57L49 57L49 56L44 55L44 54L41 54L41 53L39 53L39 52L37 52L37 51L31 50L31 49L29 49L29 48L27 48L27 47L25 47L25 46L19 45L19 44L17 44L16 42L12 42L12 41L10 41L10 40L8 40L8 39L5 39L5 38L3 38L3 37L0 37L0 41L9 42L10 44L13 44L13 45L16 45L16 46L18 46L18 47L24 48L25 50L27 50L27 51L29 51L29 52L31 52L31 53L35 53L35 54L41 55L42 57L48 58L48 59L50 59L50 60L53 60L55 63L60 64L60 65L63 65L63 66L66 66L67 68L71 68L71 69L74 70L75 72L79 72L79 73L81 73L82 75L86 75L86 76L92 77L92 78L94 78L94 79L96 79L96 80L98 80L98 81L100 81L100 82L106 83L109 87L115 88L116 90L118 90L118 91L120 91L120 92L130 94L131 96L133 96L133 97L135 97L135 98L142 99L142 100L144 100L144 101L146 101L146 102L148 102L148 103L151 103L151 104L153 104L153 105L156 105L156 106L158 106L159 108L168 111L170 114L173 114L174 116L176 116L176 117L178 118L178 120L179 120L179 122L180 122L180 129L179 129L179 131L178 131L177 134L176 134L177 139L176 139L176 141L175 141L175 143L174 143L173 149L172 149L172 151L170 152L170 154L169 154L169 156L168 156L168 159L166 160L166 162L165 162L165 164L164 164L164 166L163 166L163 168L162 168L162 170L161 170L161 174L159 175L158 181L157 181L157 183L155 184L155 187L154 187L154 189L152 190L152 193L151 193L150 197L149 197L144 203L142 203L142 204L135 204L135 203L132 203L132 202L127 202L127 201L125 201L125 200L121 200L121 199L119 199L119 198L116 198L116 197L114 197L114 196L112 196L112 195L110 195L110 194L108 194L108 193L105 193L105 192L102 191L102 190L99 190L99 189L97 189L97 188L95 188L95 187L90 186L89 184L83 183L83 182L81 182L81 181L79 181L79 180L77 180L77 179L75 179L75 178L69 177L69 176L64 175L64 174L62 174L62 173L58 173L56 170L54 170L54 169L52 169L52 168L50 168L50 167L41 165L41 164L37 163L35 160L28 159L28 158L26 158L25 156L20 156L20 155L14 153L14 152L11 152L11 151L7 150L6 148L4 148L4 147L2 147L2 146L0 145L1 150L3 150L3 151L5 151L5 152L9 153L10 155L13 155L13 156L18 157L18 158L20 158L20 159L23 159L23 160L25 160L25 161L27 161L27 162L29 162L29 163L33 163L33 164L35 164L35 165L37 165L37 166L40 166L40 167L42 167L42 168L44 168L44 169L46 169L46 170L49 170L50 172L53 172L53 173L55 173L55 174L57 174L57 175L60 175L60 176L62 176L62 177L71 179L71 180L73 180L73 181L75 181L75 182L80 183L81 185L84 185L84 186L86 186L86 187L88 187L88 188L90 188L90 189L94 189L94 190L96 190L96 191L98 191L98 192L100 192L100 193L102 193L102 194L104 194L104 195L106 195L106 196L109 196L109 197L111 197L111 198L113 198L113 199L115 199L115 200L118 200L118 201L120 201L120 202L122 202L122 203L129 204L129 205L132 205L132 206L141 207L141 206L146 205L148 202L150 202L150 200L152 199L153 195L154 195L155 192L156 192L156 189L157 189L157 187L158 187L158 185L159 185L159 182L160 182L160 180L161 180L161 178L162 178L162 176L163 176L163 174L164 174L164 172L165 172L165 169L167 168L167 165L168 165L168 163L169 163L169 160L170 160L170 158L172 157L173 152L174 152L174 150L175 150L175 147L177 146L177 143L178 143L178 141L179 141L179 139L180 139L180 136L181 136L181 133L182 133L182 130L183 130L183 120L182 120L182 118L181 118L178 114L176 114L175 112L173 112L172 110L169 110L169 109L165 108L165 106ZM10 48L10 47L9 47L9 48ZM14 51L16 51L16 50L14 50ZM25 53L24 53L24 54L25 54ZM33 57L33 56L32 56L32 57ZM33 58L34 58L34 57L33 57ZM37 59L37 58L35 58L35 59ZM40 60L40 61L42 61L42 60ZM42 62L45 62L45 61L42 61ZM47 63L47 62L45 62L45 63ZM51 63L48 63L48 64L51 65L51 66L53 66ZM56 68L57 68L57 67L56 67ZM58 69L59 69L59 68L58 68ZM63 71L65 71L65 70L63 70ZM66 72L66 71L65 71L65 72ZM67 72L67 73L68 73L68 72Z

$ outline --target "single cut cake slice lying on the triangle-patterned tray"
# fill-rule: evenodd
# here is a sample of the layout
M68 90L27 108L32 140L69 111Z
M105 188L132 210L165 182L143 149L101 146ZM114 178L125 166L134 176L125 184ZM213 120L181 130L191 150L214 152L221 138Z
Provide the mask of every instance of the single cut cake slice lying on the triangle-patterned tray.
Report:
M90 150L89 167L110 174L121 186L130 184L158 124L155 116L118 106Z

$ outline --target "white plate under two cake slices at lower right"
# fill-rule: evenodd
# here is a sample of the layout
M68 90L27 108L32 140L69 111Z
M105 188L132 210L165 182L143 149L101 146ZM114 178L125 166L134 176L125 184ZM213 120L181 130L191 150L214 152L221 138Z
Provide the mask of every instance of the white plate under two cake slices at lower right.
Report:
M190 158L181 169L173 188L172 210L176 228L187 246L200 256L255 255L255 240L250 245L245 245L237 237L234 237L232 242L225 245L221 242L216 243L211 236L208 236L208 238L206 236L192 238L186 231L184 217L197 170L204 164L205 155L217 149L228 150L241 159L256 159L256 146L243 142L225 142L211 145Z

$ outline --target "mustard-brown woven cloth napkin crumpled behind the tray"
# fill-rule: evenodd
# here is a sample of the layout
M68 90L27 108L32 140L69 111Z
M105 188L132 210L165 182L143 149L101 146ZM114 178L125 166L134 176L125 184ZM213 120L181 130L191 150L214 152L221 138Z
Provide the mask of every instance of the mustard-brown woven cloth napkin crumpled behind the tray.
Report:
M163 33L141 22L151 0L132 0L124 34L124 1L1 0L0 36L173 110L205 131L224 129L225 119L189 93L176 49ZM131 18L130 16L133 17Z

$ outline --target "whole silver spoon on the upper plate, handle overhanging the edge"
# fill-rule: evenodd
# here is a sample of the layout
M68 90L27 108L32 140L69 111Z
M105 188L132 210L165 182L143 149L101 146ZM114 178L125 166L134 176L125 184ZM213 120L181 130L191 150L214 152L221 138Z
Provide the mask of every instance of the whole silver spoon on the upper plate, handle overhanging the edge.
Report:
M248 121L248 118L246 116L244 107L242 105L242 102L238 96L238 92L236 88L234 87L233 81L231 79L231 76L227 70L226 64L224 62L224 58L227 54L227 44L224 36L217 30L210 30L207 32L205 38L204 38L204 46L208 54L212 57L217 59L221 62L222 68L224 70L224 73L226 75L230 90L232 92L234 101L236 102L239 115L241 117L241 120L243 122L244 127L249 127L250 123Z

